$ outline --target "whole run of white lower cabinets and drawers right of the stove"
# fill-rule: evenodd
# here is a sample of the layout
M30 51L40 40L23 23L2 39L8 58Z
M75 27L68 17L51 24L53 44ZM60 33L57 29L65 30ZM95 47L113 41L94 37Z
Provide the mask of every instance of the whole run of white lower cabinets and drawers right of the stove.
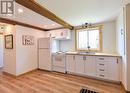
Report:
M120 63L117 57L67 55L68 72L100 79L120 81Z

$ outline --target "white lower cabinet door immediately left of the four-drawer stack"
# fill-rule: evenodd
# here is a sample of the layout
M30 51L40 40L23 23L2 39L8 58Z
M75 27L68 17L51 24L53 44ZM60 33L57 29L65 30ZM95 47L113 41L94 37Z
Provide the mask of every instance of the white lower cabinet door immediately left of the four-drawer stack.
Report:
M88 76L96 76L95 57L87 56L85 60L85 74Z

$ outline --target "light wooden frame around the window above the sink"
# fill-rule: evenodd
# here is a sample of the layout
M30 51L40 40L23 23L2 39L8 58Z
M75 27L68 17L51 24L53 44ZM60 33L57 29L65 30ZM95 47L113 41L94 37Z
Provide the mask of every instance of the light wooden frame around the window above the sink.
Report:
M88 50L88 49L85 49L85 50L82 50L82 49L78 49L78 41L77 41L77 39L78 39L78 37L77 37L77 33L78 32L80 32L80 31L82 31L82 30L88 30L88 29L90 29L90 30L99 30L99 50L97 50L97 49L93 49L93 50ZM75 49L76 49L76 51L79 51L79 52L102 52L102 25L98 25L98 26L91 26L91 27L87 27L87 28L80 28L80 29L77 29L77 30L75 30L76 32L75 32Z

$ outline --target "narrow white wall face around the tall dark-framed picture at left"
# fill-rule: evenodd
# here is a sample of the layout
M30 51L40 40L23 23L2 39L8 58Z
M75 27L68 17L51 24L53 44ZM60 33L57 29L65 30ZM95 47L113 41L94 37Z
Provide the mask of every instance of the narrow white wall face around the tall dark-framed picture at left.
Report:
M16 74L16 30L14 25L6 25L4 35L13 34L13 49L4 48L4 71Z

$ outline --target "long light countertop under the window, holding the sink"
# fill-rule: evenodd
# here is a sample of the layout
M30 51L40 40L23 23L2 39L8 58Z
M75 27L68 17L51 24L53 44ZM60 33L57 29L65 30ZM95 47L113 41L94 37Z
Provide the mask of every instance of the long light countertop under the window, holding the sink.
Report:
M66 52L66 55L84 55L84 56L104 56L104 57L121 57L116 53L95 53L95 54L80 54L78 52Z

